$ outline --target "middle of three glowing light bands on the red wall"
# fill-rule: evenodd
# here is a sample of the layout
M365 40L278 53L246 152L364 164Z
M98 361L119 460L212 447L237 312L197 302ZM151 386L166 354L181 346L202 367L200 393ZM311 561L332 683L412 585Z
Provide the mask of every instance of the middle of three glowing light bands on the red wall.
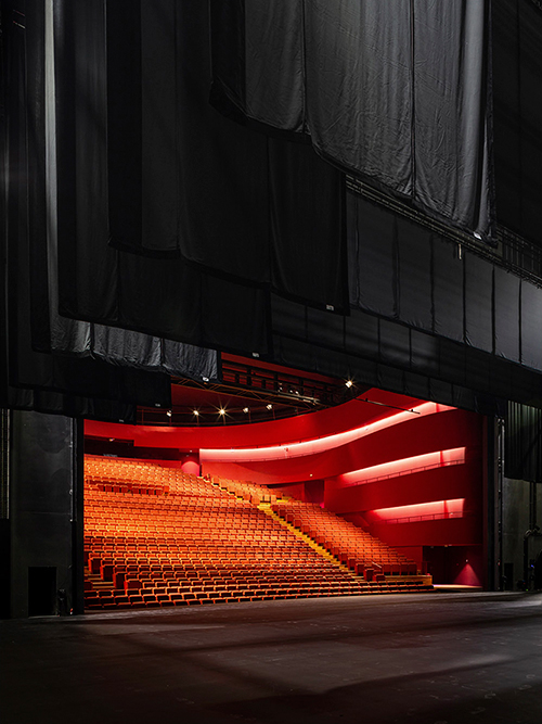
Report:
M362 485L363 483L388 480L389 478L398 478L399 475L406 475L422 470L431 470L433 468L443 468L449 465L463 465L464 462L465 448L453 447L448 450L414 455L413 457L401 458L400 460L390 460L382 465L352 470L351 472L338 475L337 480L344 485Z

